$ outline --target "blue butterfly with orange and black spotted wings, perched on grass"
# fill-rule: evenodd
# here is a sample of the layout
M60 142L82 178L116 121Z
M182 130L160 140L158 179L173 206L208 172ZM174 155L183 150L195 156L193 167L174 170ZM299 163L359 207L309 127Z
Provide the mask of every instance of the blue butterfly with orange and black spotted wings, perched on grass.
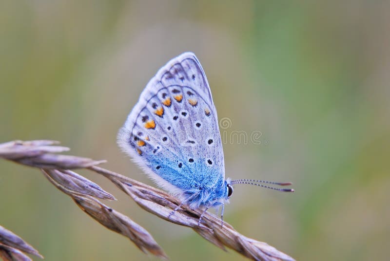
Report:
M233 185L291 185L251 179L225 180L225 163L218 118L206 75L195 54L170 60L149 81L117 136L128 153L158 186L193 209L221 207Z

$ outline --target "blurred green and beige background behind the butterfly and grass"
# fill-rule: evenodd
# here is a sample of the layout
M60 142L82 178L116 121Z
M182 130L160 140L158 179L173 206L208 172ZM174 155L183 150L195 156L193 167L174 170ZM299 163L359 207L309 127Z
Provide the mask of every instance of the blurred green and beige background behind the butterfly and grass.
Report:
M149 79L193 51L219 118L262 133L224 144L236 186L225 220L297 260L386 260L390 247L389 1L0 2L0 142L54 139L152 182L117 130ZM38 170L0 161L0 224L45 260L156 260L85 215ZM108 203L171 260L241 260L148 214L98 175Z

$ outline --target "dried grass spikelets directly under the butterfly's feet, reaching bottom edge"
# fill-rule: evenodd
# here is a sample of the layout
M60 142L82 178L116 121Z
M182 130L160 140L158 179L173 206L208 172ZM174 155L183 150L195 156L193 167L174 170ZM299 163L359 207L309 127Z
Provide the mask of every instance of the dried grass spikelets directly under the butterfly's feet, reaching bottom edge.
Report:
M224 222L223 227L221 227L220 218L211 213L206 212L203 215L202 223L199 226L198 220L203 212L201 209L191 209L187 205L182 205L174 215L170 215L180 202L165 191L104 168L92 166L89 169L110 179L146 211L169 222L191 227L204 239L221 249L225 250L225 247L229 247L253 260L294 260L265 242L259 242L241 235L228 223Z

